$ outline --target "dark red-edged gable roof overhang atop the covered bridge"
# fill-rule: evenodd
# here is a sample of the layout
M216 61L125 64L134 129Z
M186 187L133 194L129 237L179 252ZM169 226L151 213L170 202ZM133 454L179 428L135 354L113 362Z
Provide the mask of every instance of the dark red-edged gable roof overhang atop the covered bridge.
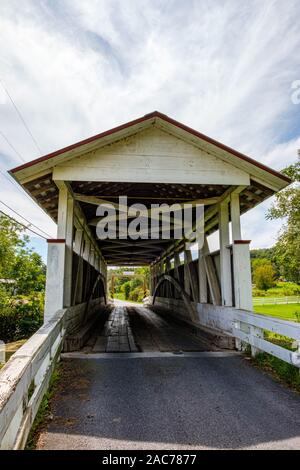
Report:
M205 142L209 144L210 146L213 146L221 151L226 152L227 154L232 155L236 159L237 166L239 165L239 163L246 163L247 165L250 165L253 168L262 170L263 172L266 172L267 174L275 177L276 179L281 180L282 187L285 187L288 183L291 182L290 178L283 175L282 173L254 160L253 158L248 157L247 155L242 154L241 152L238 152L237 150L232 149L231 147L228 147L227 145L222 144L221 142L218 142L208 137L205 134L202 134L201 132L196 131L195 129L192 129L180 123L179 121L176 121L175 119L170 118L169 116L165 114L160 113L159 111L154 111L152 113L146 114L145 116L141 118L135 119L133 121L129 121L125 124L122 124L120 126L104 131L100 134L96 134L92 137L89 137L88 139L84 139L75 144L56 150L55 152L49 153L47 155L39 157L30 162L24 163L16 168L13 168L12 170L10 170L9 173L11 173L13 176L16 177L16 179L18 179L17 174L19 172L21 172L22 170L26 170L26 169L29 170L30 168L32 168L33 170L33 167L38 166L39 164L43 162L49 163L49 167L52 167L56 164L57 157L62 157L63 155L65 155L66 157L70 158L72 156L75 156L75 151L78 149L85 149L84 152L87 152L88 146L93 143L100 144L102 143L102 141L106 140L107 138L112 138L112 140L117 140L118 138L122 138L122 136L124 136L124 131L130 132L130 130L132 130L132 132L137 132L145 128L147 124L151 124L152 122L155 122L157 120L161 121L162 123L166 123L167 125L171 125L177 131L184 132L196 140L199 139L199 141ZM60 161L62 160L60 159Z

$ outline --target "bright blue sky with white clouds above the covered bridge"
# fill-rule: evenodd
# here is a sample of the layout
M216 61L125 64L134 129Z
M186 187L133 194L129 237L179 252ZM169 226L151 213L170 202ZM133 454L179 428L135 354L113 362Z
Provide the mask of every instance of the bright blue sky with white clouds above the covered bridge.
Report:
M277 170L295 162L299 17L299 0L0 0L0 200L55 237L6 170L154 110ZM276 240L271 203L242 216L251 248Z

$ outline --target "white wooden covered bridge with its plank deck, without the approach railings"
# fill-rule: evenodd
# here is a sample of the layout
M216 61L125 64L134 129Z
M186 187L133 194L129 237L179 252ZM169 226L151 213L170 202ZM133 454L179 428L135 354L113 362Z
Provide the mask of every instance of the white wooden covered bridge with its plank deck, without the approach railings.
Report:
M63 309L65 350L232 348L247 333L236 320L252 310L240 216L287 177L158 112L11 174L57 223L45 323ZM148 307L108 305L112 266L149 268Z

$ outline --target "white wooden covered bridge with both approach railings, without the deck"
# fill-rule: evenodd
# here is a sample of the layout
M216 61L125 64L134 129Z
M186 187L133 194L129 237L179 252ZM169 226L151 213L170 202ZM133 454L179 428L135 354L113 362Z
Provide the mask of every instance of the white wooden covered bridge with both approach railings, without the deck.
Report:
M10 374L15 381L14 393L8 388L1 396L3 447L24 445L63 340L72 343L80 329L88 333L107 300L109 265L149 265L156 306L229 338L228 347L232 339L243 340L253 352L263 349L299 366L297 352L262 338L262 329L270 329L300 340L299 326L251 313L250 241L241 236L240 215L285 188L290 181L283 174L157 111L10 174L57 223L57 239L48 241L45 325L0 378L0 390ZM97 206L115 205L120 196L147 208L203 204L205 238L198 257L184 238L98 240ZM216 230L219 249L210 252L206 237ZM35 391L28 397L32 381Z

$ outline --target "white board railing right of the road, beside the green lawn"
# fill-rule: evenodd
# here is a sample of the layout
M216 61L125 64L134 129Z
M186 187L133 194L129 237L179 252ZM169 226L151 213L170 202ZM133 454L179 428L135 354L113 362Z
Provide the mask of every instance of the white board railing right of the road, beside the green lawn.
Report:
M290 351L264 338L264 331L277 333L295 340L296 351ZM251 346L252 355L264 351L300 368L300 324L279 320L255 313L236 312L233 321L233 335L239 342ZM240 348L240 344L238 344Z

